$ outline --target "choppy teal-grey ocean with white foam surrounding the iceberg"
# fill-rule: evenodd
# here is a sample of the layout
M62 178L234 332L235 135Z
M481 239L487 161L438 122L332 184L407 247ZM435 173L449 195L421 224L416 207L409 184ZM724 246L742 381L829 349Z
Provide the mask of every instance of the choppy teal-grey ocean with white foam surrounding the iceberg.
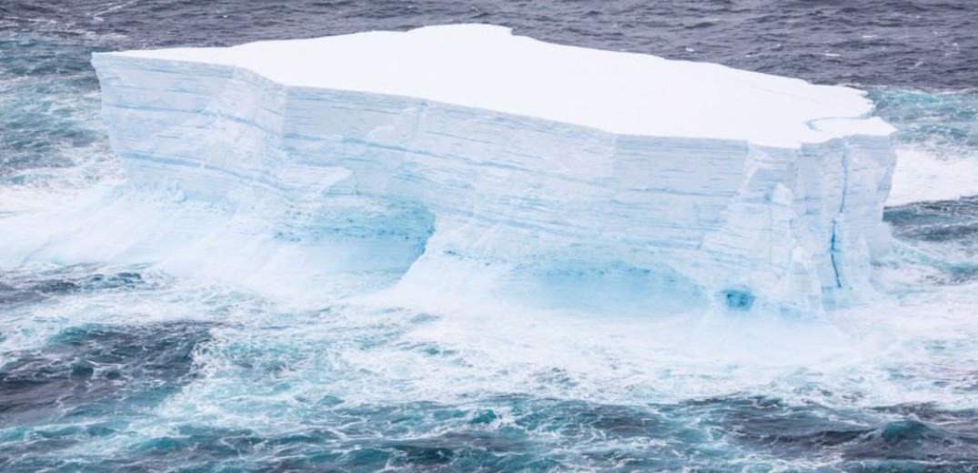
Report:
M711 321L296 311L2 261L0 471L978 471L978 3L270 3L3 0L0 218L124 179L93 51L493 22L867 89L899 128L878 300L762 353Z

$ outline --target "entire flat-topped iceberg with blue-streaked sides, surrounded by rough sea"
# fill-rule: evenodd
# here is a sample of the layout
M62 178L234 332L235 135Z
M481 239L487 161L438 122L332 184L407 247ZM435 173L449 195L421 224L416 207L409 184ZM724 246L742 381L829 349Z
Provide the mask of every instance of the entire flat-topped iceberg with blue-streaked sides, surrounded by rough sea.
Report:
M817 314L885 250L891 128L851 89L485 25L93 64L131 192L197 209L110 259L306 293L380 274L427 305Z

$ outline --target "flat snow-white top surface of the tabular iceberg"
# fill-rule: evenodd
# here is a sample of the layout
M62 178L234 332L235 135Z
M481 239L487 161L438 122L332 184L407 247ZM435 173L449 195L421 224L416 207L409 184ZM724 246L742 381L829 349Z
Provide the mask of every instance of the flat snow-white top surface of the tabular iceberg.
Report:
M410 97L618 135L796 149L893 132L869 116L871 102L855 89L556 45L487 24L105 56L230 65L286 86Z

